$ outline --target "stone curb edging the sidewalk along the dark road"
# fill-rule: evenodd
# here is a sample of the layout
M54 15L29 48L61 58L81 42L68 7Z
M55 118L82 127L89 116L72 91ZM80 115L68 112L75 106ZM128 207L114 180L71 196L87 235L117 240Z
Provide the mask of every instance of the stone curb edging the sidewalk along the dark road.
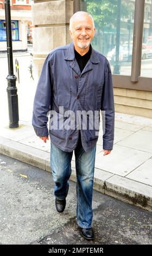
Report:
M51 172L50 153L46 151L0 137L0 153ZM72 174L69 180L76 182L75 161L73 160L71 167ZM152 190L149 185L95 168L93 188L98 192L152 212Z

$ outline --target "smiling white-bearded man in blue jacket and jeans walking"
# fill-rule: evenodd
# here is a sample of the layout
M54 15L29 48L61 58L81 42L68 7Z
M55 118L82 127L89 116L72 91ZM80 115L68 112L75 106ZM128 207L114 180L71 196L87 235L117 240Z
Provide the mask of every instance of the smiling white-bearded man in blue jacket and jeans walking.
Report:
M37 85L33 109L36 135L45 143L48 139L47 113L50 110L50 166L58 212L63 212L66 206L74 151L77 223L81 235L87 240L94 239L91 227L92 193L99 111L102 110L105 120L104 156L110 154L113 148L115 115L109 62L90 45L95 31L90 14L79 11L71 17L69 33L73 42L48 54ZM82 112L86 113L83 120ZM88 113L93 117L93 128L88 127ZM69 115L72 129L69 129Z

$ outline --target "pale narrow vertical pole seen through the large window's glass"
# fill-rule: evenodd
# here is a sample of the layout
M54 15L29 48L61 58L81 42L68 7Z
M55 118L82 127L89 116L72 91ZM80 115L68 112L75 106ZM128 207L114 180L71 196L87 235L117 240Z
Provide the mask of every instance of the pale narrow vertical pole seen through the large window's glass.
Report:
M113 74L120 74L119 48L121 31L121 0L117 0L117 35L116 35L116 62L113 68Z

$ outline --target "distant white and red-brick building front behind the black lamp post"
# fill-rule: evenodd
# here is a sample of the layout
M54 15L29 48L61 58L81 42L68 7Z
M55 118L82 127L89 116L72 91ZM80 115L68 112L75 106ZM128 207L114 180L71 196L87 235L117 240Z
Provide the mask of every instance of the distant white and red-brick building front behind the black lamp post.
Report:
M11 0L11 29L13 51L27 51L32 42L31 1ZM0 51L7 51L4 0L0 1Z

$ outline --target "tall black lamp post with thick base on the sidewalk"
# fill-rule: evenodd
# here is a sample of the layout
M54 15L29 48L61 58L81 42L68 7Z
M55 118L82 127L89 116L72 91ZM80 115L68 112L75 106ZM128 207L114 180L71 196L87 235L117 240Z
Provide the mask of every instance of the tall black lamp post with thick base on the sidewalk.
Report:
M9 75L7 76L7 93L8 93L8 107L9 107L9 127L18 127L18 96L16 88L16 76L13 70L12 59L12 38L11 38L11 16L10 16L10 0L5 0L5 21L7 32L7 54L8 54L8 69Z

